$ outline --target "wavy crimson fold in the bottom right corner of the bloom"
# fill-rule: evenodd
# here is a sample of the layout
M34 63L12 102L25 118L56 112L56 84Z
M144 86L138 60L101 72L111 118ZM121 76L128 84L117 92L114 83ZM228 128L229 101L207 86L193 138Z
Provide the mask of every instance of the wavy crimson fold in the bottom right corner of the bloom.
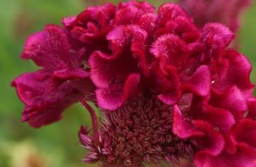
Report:
M217 167L217 166L233 166L233 167L255 167L256 152L251 147L244 144L237 146L237 152L228 154L223 152L221 155L212 156L205 152L198 152L195 155L195 166L197 167Z

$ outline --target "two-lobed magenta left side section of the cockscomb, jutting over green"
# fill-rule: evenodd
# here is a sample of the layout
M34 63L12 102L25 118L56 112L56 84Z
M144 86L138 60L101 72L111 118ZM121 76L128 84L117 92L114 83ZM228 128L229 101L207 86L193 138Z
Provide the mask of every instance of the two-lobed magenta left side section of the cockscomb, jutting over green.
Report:
M57 25L47 25L28 38L21 58L33 60L42 69L12 81L26 105L23 121L36 128L53 123L80 97L93 96L90 73L82 68L83 52L71 46L69 37Z

